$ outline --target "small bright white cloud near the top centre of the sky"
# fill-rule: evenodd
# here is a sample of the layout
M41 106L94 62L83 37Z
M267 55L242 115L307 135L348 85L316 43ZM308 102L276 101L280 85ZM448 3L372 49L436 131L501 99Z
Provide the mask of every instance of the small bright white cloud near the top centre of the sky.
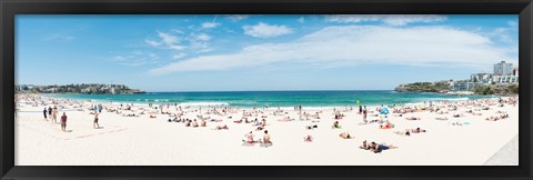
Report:
M255 26L244 26L244 33L258 38L272 38L292 33L292 29L285 26L272 26L260 22Z

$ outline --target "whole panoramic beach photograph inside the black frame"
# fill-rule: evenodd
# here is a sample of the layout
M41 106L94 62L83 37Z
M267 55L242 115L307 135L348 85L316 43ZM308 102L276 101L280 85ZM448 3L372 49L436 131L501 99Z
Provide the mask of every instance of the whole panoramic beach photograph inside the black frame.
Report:
M16 17L16 166L519 166L519 16Z

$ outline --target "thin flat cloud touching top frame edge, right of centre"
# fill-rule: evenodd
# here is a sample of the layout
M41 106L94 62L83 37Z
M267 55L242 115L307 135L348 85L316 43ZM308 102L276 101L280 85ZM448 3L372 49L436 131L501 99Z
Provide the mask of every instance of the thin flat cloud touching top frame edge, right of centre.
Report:
M436 14L333 14L326 16L328 22L358 23L366 21L382 21L389 26L405 26L415 22L438 22L447 18Z

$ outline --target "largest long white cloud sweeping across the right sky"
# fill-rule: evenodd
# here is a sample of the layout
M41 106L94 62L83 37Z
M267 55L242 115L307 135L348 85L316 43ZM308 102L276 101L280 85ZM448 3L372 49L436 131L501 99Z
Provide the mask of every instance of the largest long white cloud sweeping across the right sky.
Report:
M332 68L360 63L455 66L483 69L515 49L449 27L328 27L292 42L250 46L237 53L201 56L150 70L151 74L258 68L282 62Z

